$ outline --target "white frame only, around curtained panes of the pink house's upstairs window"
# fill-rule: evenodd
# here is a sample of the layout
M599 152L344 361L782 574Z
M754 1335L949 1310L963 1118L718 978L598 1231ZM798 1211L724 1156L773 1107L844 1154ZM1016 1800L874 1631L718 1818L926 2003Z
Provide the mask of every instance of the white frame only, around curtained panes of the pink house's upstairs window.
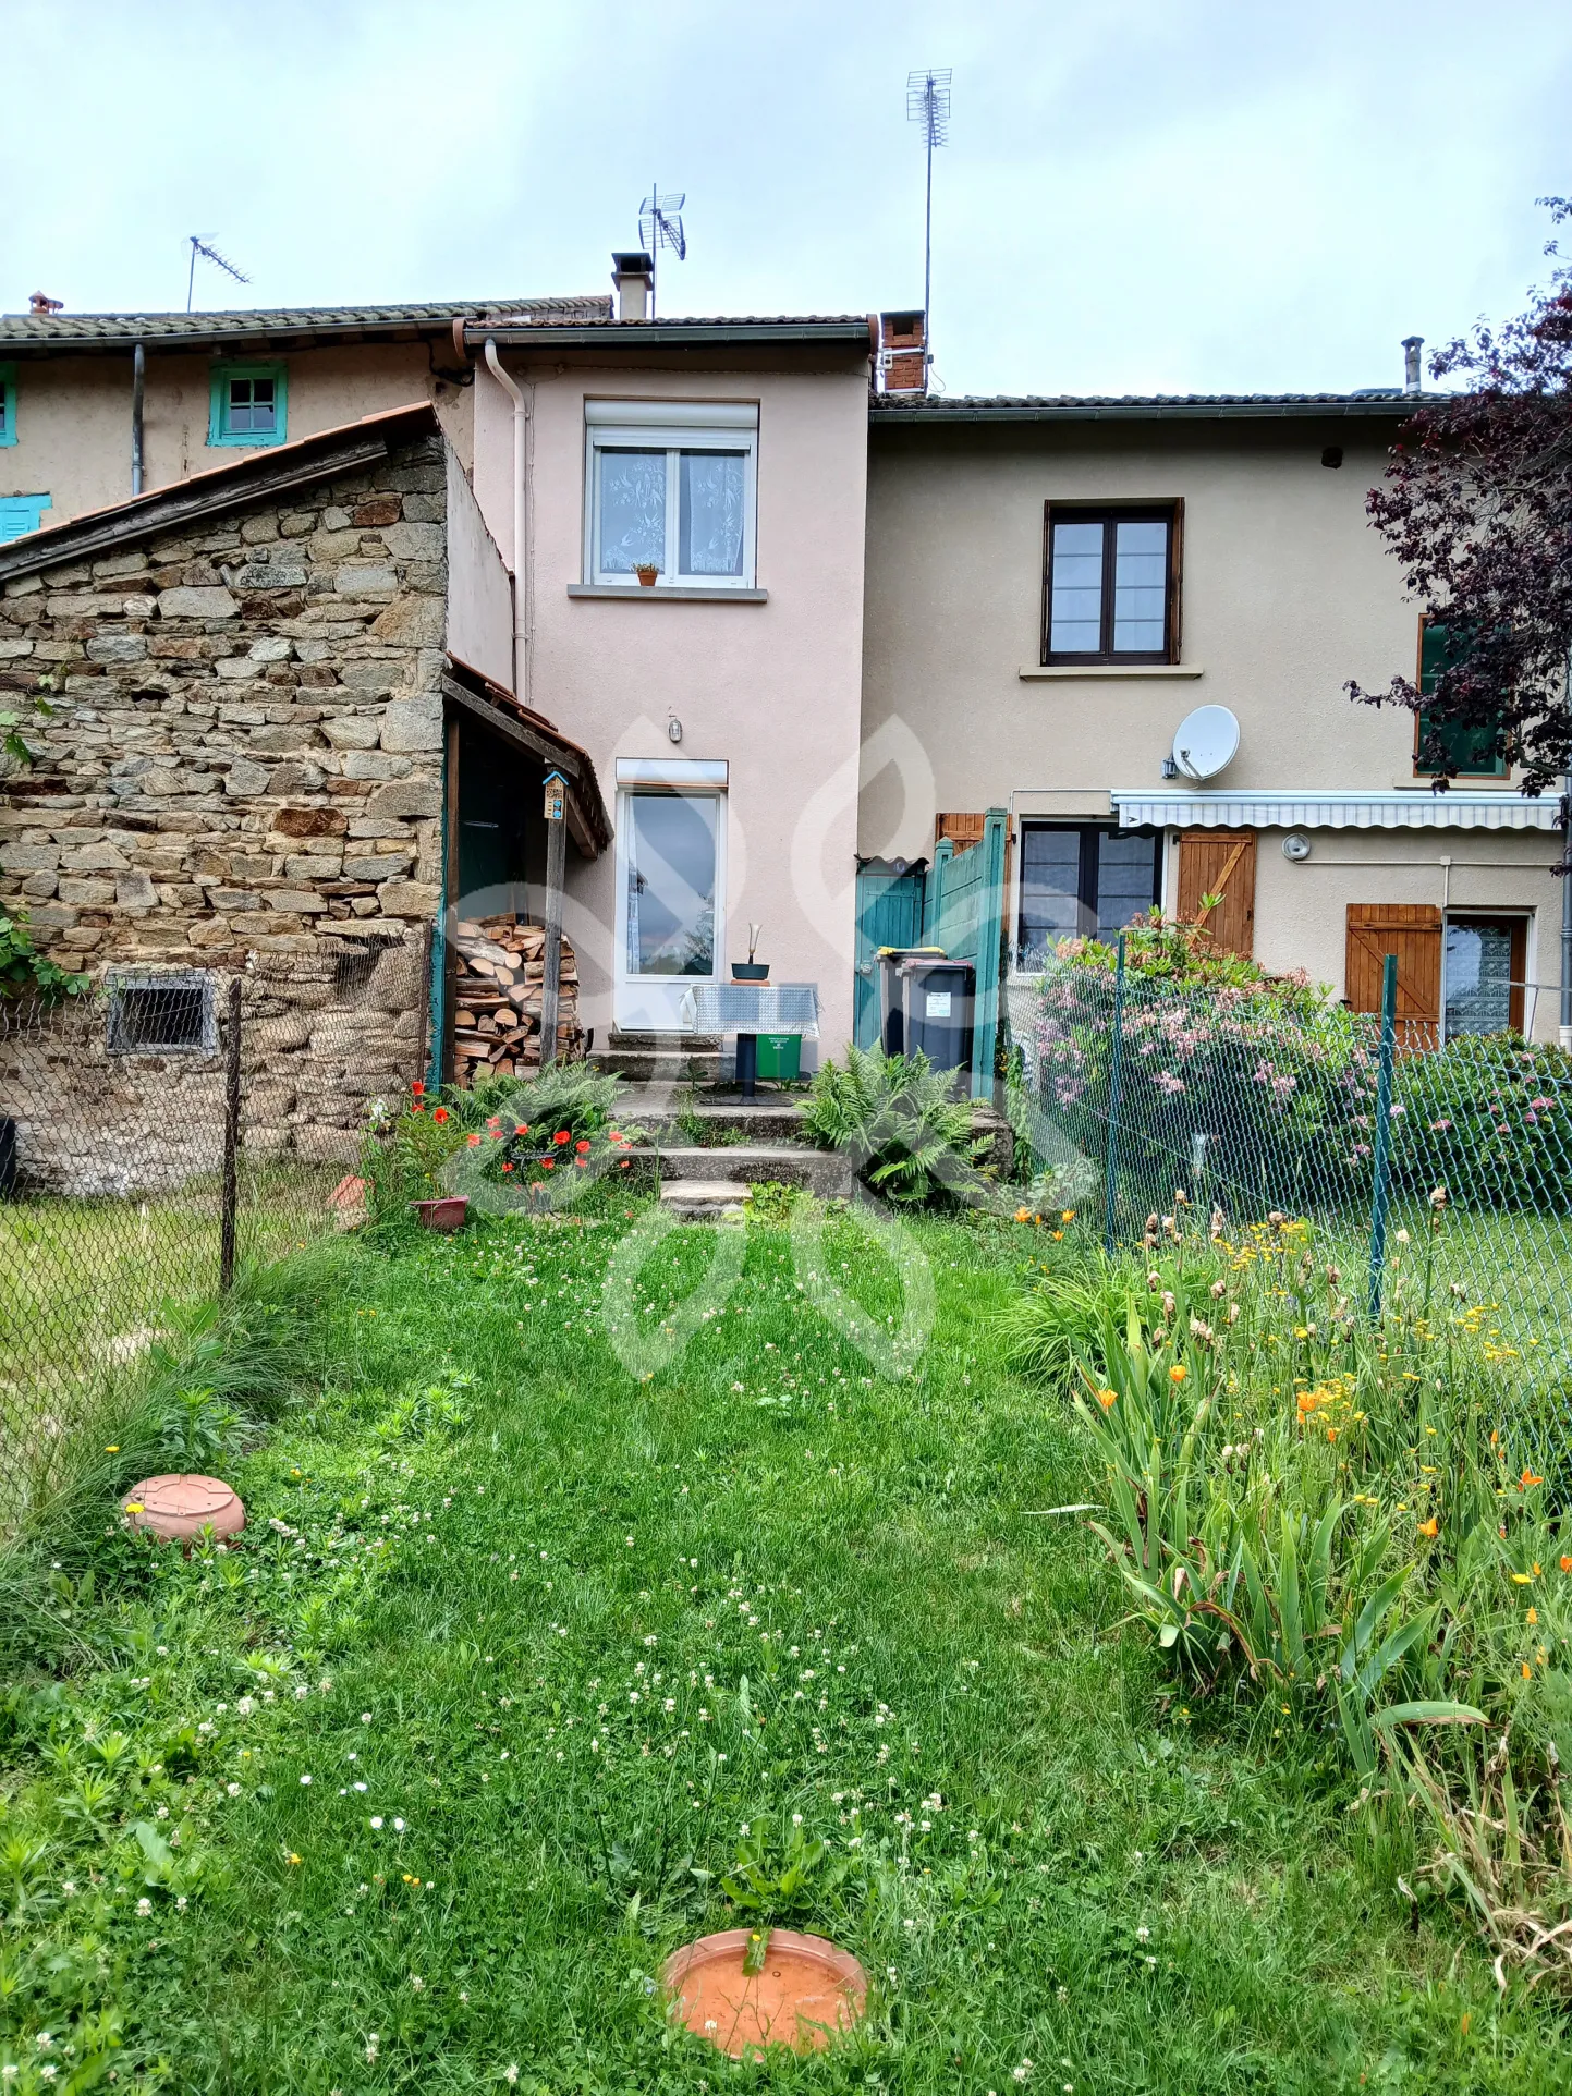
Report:
M752 589L759 522L759 402L757 400L587 400L585 402L585 566L583 576L602 589L643 589L637 574L599 566L599 453L667 453L667 549L656 591ZM681 537L679 453L742 451L742 574L679 574Z

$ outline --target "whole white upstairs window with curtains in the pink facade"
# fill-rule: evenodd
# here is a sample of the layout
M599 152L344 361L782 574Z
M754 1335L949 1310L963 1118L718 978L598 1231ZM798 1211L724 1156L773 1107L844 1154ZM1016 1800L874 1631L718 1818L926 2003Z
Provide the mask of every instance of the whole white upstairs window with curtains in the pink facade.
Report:
M755 405L591 400L587 438L587 583L752 589Z

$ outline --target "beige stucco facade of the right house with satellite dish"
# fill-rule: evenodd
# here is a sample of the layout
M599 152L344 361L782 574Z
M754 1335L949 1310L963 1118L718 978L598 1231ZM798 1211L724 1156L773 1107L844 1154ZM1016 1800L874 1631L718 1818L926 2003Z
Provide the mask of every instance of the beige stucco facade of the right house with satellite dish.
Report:
M1111 822L1119 792L1184 796L1163 759L1203 704L1228 706L1241 740L1197 796L1371 792L1434 807L1415 776L1413 717L1356 706L1344 690L1415 673L1417 610L1364 516L1398 413L1088 411L981 425L874 415L859 853L931 855L939 811ZM1323 465L1329 446L1339 467ZM1182 503L1176 664L1044 671L1048 501ZM1511 792L1511 780L1459 784ZM1163 824L1170 910L1182 805ZM1432 903L1526 914L1528 981L1557 981L1557 836L1310 826L1310 857L1291 864L1287 832L1258 834L1253 952L1268 968L1304 966L1341 994L1348 905ZM1532 1031L1553 1040L1555 991L1530 989L1526 1006Z

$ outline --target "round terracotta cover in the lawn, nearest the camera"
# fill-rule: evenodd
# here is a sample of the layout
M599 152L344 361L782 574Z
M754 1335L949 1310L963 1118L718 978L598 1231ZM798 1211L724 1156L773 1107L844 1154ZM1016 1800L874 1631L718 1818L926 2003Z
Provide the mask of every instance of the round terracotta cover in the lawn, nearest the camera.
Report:
M765 2046L820 2052L861 2016L868 1974L849 1951L771 1928L763 1970L752 1974L742 1970L750 1937L725 1928L667 1958L660 1981L690 2031L740 2060Z

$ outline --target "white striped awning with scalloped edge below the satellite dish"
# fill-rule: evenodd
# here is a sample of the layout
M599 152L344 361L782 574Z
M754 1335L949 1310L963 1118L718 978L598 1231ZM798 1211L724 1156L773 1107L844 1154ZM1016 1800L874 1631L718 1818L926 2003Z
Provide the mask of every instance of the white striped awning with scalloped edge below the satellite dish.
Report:
M1113 788L1121 830L1555 830L1557 794L1522 792L1197 792Z

